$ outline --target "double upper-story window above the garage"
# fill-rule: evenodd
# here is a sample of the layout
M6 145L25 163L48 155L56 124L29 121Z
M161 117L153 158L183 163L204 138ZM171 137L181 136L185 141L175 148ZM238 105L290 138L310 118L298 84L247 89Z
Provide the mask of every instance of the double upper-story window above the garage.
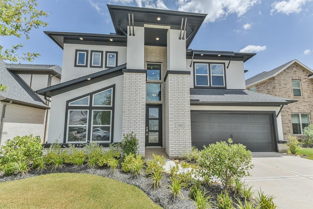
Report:
M195 63L195 86L225 88L224 64Z

